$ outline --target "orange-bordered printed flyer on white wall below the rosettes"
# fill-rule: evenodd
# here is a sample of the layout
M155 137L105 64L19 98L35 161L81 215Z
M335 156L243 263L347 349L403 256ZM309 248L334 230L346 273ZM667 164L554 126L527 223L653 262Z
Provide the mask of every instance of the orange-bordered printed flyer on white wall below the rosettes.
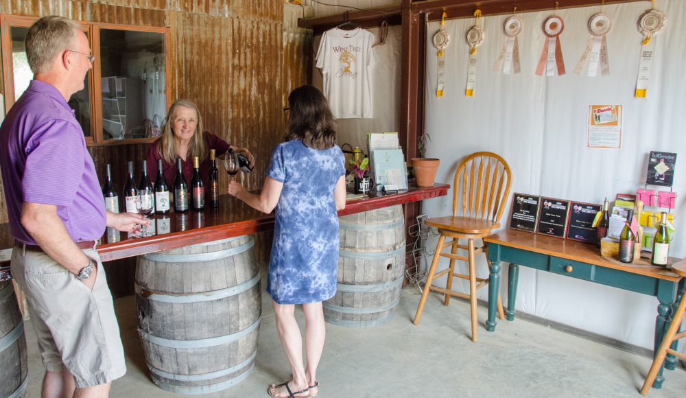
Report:
M622 148L622 105L589 105L589 148Z

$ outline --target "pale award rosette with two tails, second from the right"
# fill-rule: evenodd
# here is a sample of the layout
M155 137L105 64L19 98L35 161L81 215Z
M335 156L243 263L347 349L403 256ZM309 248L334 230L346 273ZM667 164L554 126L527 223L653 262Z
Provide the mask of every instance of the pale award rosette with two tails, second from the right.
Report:
M598 64L600 63L600 75L607 76L610 75L610 61L607 56L607 42L605 40L605 35L612 29L612 18L608 14L602 12L591 16L589 19L589 32L591 32L591 37L589 38L584 52L579 58L576 68L574 68L574 73L580 75L586 65L589 62L589 76L598 75Z

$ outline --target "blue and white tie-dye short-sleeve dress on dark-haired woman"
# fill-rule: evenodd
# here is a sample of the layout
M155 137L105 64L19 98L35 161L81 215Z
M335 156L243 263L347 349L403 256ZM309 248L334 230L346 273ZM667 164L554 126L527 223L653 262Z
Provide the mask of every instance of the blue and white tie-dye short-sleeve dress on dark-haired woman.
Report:
M267 293L276 303L316 303L335 294L339 232L333 189L344 174L338 145L316 150L294 139L274 149L267 175L283 189L276 204Z

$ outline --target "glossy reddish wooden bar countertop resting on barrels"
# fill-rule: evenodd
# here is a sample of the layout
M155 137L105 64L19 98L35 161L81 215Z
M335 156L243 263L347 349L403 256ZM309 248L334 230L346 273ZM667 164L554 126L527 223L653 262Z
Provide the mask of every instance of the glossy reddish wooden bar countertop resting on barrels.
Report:
M394 204L405 204L419 200L445 196L450 185L434 184L431 188L411 187L398 194L370 195L369 198L353 200L346 203L345 209L338 215L348 215L362 211L380 209ZM274 214L264 214L252 209L241 200L229 195L220 196L217 209L206 207L203 211L185 211L184 213L169 213L155 215L151 222L155 222L156 235L151 237L128 237L127 233L120 233L108 229L102 237L102 244L97 252L102 261L110 261L154 253L193 244L213 242L228 237L248 235L274 229ZM161 229L161 223L169 226L166 233ZM9 227L7 226L7 235ZM8 242L11 239L7 239ZM6 246L3 248L11 248Z

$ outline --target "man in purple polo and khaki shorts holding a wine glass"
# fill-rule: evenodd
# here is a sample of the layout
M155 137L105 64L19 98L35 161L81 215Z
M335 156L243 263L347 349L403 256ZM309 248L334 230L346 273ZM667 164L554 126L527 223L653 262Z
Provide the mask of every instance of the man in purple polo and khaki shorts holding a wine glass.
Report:
M105 226L135 232L137 223L149 223L105 211L83 131L67 105L93 62L82 27L46 16L29 28L25 45L34 80L0 126L12 276L38 336L43 397L107 397L126 365L95 239Z

